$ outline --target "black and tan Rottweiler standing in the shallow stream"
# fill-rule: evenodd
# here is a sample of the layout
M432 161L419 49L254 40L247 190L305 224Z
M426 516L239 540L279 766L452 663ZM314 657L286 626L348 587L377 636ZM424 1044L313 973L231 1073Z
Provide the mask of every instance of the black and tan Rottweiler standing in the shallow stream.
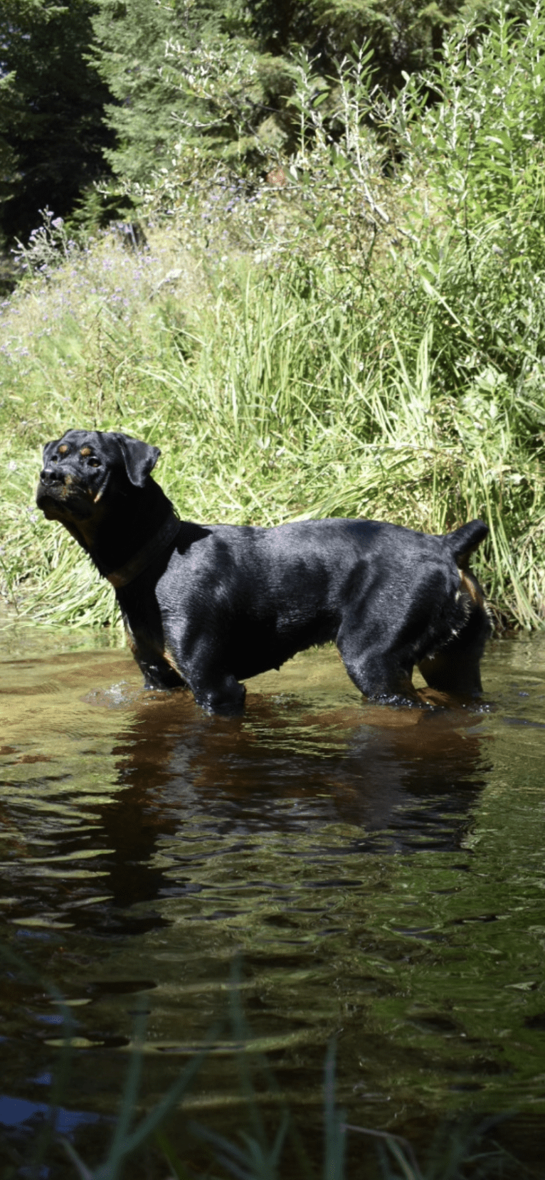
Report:
M375 520L275 529L178 520L151 478L160 452L125 434L68 431L47 442L37 503L116 588L149 688L189 686L237 712L248 676L334 640L357 688L419 700L480 691L490 620L470 553L480 520L445 537Z

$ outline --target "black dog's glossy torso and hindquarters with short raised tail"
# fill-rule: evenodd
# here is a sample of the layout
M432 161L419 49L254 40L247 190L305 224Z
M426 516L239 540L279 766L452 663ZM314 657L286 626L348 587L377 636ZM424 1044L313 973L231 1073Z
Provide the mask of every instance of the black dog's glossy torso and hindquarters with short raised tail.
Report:
M486 532L480 522L445 537L342 518L208 525L172 555L157 594L177 604L184 649L198 645L236 680L334 641L366 695L414 696L413 667L427 658L433 687L471 695L490 624L467 560ZM179 625L166 630L172 648ZM448 671L454 636L457 651L467 640L465 676L458 655L455 675Z

